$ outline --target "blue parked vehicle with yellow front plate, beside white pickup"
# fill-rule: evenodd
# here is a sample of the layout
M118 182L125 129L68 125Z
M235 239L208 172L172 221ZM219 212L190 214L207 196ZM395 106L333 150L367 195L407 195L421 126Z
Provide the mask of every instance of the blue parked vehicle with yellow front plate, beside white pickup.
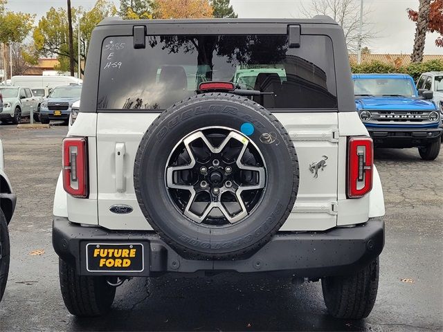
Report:
M64 120L69 122L71 106L73 102L80 99L82 86L57 86L51 94L43 100L40 107L40 120L47 124L50 120Z

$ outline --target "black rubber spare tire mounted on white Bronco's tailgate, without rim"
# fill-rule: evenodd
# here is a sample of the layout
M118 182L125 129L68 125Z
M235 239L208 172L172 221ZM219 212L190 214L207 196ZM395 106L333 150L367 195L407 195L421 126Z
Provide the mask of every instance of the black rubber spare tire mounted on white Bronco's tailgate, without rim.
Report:
M168 158L177 143L194 131L213 126L240 131L245 122L253 124L248 138L266 163L262 200L237 223L218 228L199 225L168 196ZM272 139L264 140L269 133ZM197 95L164 111L147 129L134 163L134 188L145 218L170 246L192 259L239 258L264 246L293 208L298 176L296 150L282 124L260 104L229 93Z

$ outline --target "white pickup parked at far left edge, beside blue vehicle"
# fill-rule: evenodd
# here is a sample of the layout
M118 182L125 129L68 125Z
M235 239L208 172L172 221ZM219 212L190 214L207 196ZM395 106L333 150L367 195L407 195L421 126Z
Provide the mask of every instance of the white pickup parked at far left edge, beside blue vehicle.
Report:
M38 112L41 100L36 98L29 88L19 86L0 86L3 95L2 123L19 124L21 118L28 118L30 113Z

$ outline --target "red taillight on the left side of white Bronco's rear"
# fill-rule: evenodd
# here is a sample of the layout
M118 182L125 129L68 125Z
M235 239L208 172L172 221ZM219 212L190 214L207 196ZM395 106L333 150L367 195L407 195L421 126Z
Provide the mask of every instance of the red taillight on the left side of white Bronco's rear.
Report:
M78 198L88 196L87 141L83 137L67 137L63 140L63 187Z

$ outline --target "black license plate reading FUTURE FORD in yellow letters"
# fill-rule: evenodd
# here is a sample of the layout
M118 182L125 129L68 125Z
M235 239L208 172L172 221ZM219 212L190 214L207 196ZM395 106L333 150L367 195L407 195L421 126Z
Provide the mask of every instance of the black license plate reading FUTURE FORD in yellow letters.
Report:
M145 268L141 243L88 243L89 272L142 272Z

